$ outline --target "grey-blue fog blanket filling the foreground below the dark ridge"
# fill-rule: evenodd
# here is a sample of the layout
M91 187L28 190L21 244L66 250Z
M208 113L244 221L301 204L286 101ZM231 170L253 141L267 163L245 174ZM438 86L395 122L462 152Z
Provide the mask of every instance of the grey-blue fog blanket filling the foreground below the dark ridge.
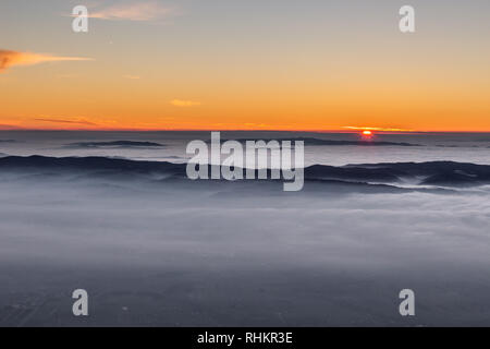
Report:
M490 325L487 188L311 185L4 172L0 325Z

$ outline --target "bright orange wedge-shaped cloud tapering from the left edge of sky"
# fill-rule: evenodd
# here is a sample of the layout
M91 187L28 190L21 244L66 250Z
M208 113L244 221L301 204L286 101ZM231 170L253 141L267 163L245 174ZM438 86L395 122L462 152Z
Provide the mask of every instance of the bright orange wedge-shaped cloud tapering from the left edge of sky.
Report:
M60 57L45 53L19 52L0 49L0 73L14 65L35 65L45 62L90 61L91 58Z

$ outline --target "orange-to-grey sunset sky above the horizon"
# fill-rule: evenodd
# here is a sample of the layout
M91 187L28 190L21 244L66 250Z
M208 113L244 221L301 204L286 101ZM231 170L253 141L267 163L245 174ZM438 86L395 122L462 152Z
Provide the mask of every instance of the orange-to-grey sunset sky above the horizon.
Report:
M2 0L0 129L490 132L489 37L488 0Z

